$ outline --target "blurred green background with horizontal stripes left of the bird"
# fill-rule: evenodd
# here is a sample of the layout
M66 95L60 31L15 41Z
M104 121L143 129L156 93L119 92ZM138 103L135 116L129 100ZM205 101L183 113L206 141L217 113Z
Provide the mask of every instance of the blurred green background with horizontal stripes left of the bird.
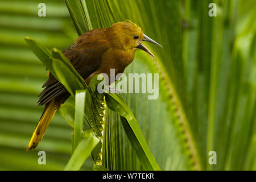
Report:
M38 16L40 2L47 3L46 17ZM70 46L77 33L65 2L0 1L0 169L63 170L73 130L59 113L36 151L26 152L43 111L36 102L47 80L46 68L24 42L26 36L48 48ZM38 164L40 150L47 151L47 165Z

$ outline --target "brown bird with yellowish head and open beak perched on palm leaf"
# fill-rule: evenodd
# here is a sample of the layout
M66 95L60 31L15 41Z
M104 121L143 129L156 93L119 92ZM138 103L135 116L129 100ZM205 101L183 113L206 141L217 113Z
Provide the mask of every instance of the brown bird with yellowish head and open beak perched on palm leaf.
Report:
M110 69L115 70L115 75L123 73L134 60L135 51L138 49L155 57L142 44L144 41L162 47L145 35L141 27L127 20L114 23L108 28L85 32L76 39L72 46L64 49L63 54L88 85L90 79L100 73L105 73L110 77ZM71 96L64 85L51 73L42 88L44 89L39 94L38 104L44 106L44 111L28 143L27 151L34 150L38 146L56 110Z

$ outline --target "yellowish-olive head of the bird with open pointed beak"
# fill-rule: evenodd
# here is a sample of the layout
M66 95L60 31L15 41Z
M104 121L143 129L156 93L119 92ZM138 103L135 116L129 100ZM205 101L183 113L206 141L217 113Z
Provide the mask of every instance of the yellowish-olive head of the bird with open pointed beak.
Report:
M127 22L114 23L110 28L114 30L114 44L119 48L131 51L142 49L155 57L142 42L147 41L162 47L159 43L155 42L155 40L143 34L141 27L138 27L137 24L129 20L127 20Z

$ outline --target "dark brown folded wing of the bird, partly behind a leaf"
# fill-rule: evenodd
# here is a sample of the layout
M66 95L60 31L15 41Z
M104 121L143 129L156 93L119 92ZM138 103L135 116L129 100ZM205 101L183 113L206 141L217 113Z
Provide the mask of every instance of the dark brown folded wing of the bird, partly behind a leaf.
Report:
M89 39L89 35L87 36ZM71 47L63 51L63 54L84 79L100 68L102 55L110 48L108 42L104 40L93 39L90 41L88 39L84 34ZM65 87L51 73L42 87L46 88L39 95L39 105L45 105L53 98L67 92Z

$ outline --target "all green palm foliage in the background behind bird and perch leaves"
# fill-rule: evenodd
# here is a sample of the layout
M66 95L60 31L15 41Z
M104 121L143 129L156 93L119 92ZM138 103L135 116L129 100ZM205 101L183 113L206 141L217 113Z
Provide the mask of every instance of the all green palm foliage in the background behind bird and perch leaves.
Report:
M211 18L210 2L87 0L75 2L69 12L73 19L79 17L79 34L130 19L163 44L164 49L147 45L157 59L138 51L126 69L160 73L159 99L124 96L160 168L255 170L255 3L213 1L217 17ZM46 1L46 18L36 16L38 3L0 2L1 169L64 169L71 152L72 129L59 115L36 150L47 151L48 164L39 166L37 152L24 150L42 112L36 95L46 72L23 38L59 49L76 38L63 1ZM87 11L78 11L81 7ZM212 150L217 152L216 166L208 164ZM103 159L108 169L142 169L118 115L110 110ZM92 169L91 164L86 160L82 169Z

